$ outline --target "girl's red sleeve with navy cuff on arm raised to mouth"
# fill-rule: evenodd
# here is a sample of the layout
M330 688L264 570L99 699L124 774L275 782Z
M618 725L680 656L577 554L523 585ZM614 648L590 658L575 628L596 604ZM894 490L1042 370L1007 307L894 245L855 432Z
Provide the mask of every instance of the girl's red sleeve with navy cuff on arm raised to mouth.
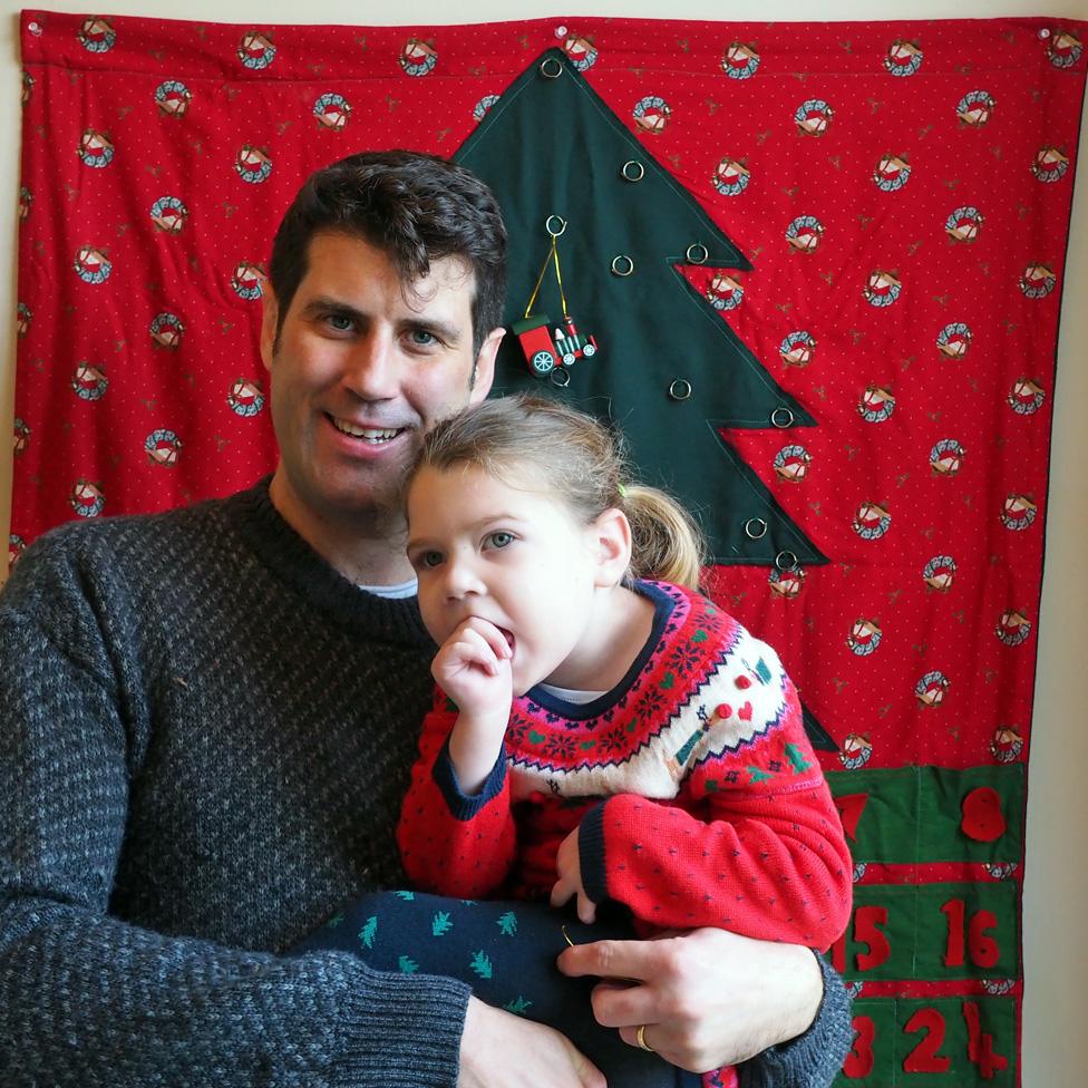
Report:
M441 706L427 715L419 758L411 771L397 828L405 872L412 885L456 898L484 898L506 881L514 865L516 833L511 808L506 750L499 752L478 794L462 791L449 757L457 720Z

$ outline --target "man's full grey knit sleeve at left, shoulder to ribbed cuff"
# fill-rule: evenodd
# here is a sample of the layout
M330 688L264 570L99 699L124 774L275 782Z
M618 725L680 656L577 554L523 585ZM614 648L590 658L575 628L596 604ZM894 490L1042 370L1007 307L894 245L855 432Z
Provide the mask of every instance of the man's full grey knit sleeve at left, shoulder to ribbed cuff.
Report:
M0 596L0 1082L453 1088L467 987L110 916L130 706L108 618L33 550Z

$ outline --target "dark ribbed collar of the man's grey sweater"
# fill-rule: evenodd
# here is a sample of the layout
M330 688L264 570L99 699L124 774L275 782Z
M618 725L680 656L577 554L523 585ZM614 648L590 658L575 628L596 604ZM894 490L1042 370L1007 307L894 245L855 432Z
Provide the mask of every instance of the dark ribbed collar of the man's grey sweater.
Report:
M224 501L227 522L261 562L304 602L367 638L433 645L415 596L380 598L349 582L272 505L266 476Z

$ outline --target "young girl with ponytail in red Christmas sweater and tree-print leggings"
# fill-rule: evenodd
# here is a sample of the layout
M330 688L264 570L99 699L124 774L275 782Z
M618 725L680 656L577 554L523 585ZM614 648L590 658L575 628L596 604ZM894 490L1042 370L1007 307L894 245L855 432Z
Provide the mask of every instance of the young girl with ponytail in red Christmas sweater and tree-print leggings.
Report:
M775 652L697 592L688 516L626 479L605 428L531 398L440 424L409 474L408 557L439 690L398 838L414 886L449 897L427 901L431 932L412 949L427 956L447 932L478 943L462 955L474 984L494 980L514 936L494 930L518 915L460 901L499 894L574 900L583 923L622 904L643 934L718 926L825 950L846 925L849 856L796 691ZM408 923L389 919L404 942ZM524 989L530 968L514 962ZM553 1026L587 1018L565 1012ZM574 1041L612 1084L686 1082L662 1062L618 1076ZM652 1024L638 1041L652 1051Z

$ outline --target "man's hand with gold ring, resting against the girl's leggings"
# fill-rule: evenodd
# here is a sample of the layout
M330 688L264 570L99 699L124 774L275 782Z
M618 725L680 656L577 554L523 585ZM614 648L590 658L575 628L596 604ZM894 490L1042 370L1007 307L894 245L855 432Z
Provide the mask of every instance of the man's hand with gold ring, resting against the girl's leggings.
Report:
M558 968L602 981L593 1014L637 1046L674 1066L707 1072L737 1065L803 1034L823 998L813 953L794 944L754 941L726 930L662 934L649 941L598 941L566 949Z

